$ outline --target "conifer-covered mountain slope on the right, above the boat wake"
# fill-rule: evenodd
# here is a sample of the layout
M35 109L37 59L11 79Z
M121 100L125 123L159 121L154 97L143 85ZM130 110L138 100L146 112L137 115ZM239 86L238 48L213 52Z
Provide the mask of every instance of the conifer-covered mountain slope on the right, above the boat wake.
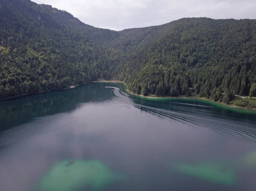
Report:
M176 96L172 88L178 94L193 88L203 97L213 96L217 89L248 95L256 82L256 20L177 22L169 33L134 53L117 72L119 80L144 95Z

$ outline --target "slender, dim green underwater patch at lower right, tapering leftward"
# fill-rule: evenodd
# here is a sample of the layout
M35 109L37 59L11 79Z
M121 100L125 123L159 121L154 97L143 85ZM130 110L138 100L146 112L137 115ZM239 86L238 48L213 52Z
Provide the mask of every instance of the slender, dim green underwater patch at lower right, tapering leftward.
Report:
M177 164L174 168L183 174L198 177L213 183L233 185L236 182L235 172L222 164Z

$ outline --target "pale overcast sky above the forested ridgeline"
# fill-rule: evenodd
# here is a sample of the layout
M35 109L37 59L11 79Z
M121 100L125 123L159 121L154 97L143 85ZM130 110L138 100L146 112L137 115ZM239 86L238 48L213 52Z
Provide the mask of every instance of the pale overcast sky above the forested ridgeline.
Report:
M183 17L256 19L256 0L32 0L65 10L82 22L122 30Z

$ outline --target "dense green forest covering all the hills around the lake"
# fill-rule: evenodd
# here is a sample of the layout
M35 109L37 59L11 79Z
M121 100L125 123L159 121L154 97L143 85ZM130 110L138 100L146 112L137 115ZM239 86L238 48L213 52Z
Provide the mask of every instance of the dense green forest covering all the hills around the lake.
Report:
M0 0L0 99L98 79L145 96L256 96L256 20L184 18L112 31L49 5Z

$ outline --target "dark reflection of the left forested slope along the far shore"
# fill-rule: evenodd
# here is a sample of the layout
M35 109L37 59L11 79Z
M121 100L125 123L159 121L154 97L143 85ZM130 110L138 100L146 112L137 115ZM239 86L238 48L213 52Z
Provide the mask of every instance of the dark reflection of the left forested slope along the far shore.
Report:
M115 84L122 87L122 84ZM0 102L0 131L21 125L37 117L70 112L79 103L110 100L112 95L104 83L89 83L65 91L48 92ZM13 120L15 119L15 120Z

